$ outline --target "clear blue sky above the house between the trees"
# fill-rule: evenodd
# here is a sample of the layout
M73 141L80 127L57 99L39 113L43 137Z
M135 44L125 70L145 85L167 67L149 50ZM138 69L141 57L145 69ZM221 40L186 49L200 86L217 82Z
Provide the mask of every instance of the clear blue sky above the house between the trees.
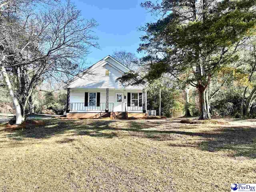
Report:
M94 18L99 26L94 30L100 49L91 48L87 62L94 64L114 51L137 53L140 44L138 32L146 22L156 21L154 16L140 7L144 0L73 0L86 19Z

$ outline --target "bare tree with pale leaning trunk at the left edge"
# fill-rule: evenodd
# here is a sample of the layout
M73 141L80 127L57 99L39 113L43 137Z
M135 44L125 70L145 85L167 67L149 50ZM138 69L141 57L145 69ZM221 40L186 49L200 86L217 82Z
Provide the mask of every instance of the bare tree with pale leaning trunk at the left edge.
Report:
M22 22L24 14L30 13L35 8L36 4L48 5L56 2L55 0L2 0L0 1L0 74L2 81L7 86L10 96L12 97L14 108L16 110L16 124L22 122L21 108L18 103L18 96L10 82L8 75L9 70L6 70L6 65L14 61L14 56L26 48L24 46L23 34L20 29L24 26L18 26Z

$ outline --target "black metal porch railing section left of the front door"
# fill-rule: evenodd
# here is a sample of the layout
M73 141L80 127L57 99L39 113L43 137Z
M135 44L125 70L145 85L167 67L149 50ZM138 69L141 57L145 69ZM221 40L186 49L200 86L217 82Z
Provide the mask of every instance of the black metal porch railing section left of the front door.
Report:
M108 111L113 111L114 103L108 103ZM88 106L84 106L84 103L70 103L70 111L105 111L106 103L100 103L97 106L97 103L88 103Z

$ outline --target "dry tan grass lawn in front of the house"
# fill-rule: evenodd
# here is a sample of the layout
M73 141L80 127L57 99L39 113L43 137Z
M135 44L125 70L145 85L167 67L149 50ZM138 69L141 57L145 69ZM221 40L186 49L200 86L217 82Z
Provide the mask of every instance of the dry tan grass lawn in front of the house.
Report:
M256 182L256 126L43 120L0 127L0 191L230 191Z

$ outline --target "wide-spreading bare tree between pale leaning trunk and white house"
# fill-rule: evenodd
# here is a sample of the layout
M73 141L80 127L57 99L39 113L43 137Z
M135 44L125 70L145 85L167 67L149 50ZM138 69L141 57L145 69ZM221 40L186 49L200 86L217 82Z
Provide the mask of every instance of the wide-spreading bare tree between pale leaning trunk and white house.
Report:
M12 89L23 119L31 93L39 82L80 74L89 48L98 47L97 37L91 35L98 24L94 19L82 18L69 1L24 18L16 28L21 35L8 38L8 45L12 46L3 45L4 53L10 50L12 54L1 64L2 69L7 69L6 75L12 76Z

